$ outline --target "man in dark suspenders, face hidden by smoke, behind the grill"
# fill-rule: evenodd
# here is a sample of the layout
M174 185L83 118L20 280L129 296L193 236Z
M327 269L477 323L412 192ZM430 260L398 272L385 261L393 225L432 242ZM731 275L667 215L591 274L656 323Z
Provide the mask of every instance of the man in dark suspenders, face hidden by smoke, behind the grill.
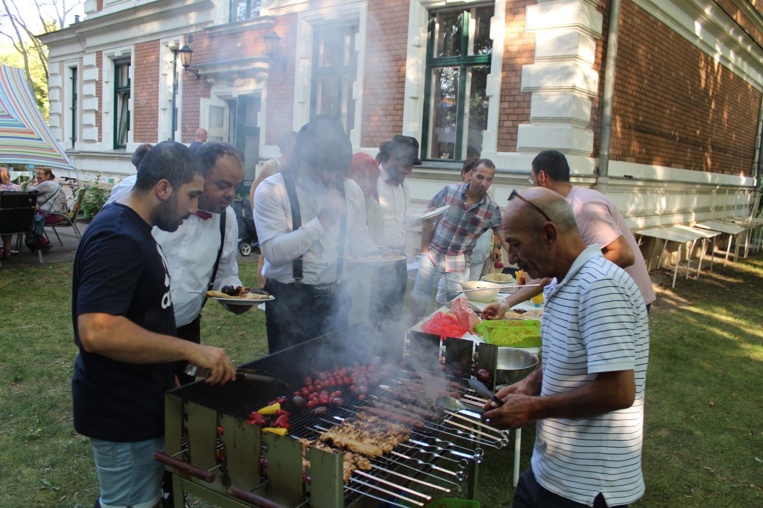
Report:
M265 306L270 353L346 327L352 302L343 255L378 252L362 190L345 178L352 155L342 122L317 115L300 129L288 167L257 187L262 275L275 296Z

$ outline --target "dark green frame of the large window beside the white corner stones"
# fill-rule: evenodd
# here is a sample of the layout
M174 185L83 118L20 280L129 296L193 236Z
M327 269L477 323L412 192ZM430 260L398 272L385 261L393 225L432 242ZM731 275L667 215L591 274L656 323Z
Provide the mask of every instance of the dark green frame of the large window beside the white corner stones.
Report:
M481 5L468 5L459 6L456 8L443 8L432 9L428 11L429 20L427 21L427 59L426 70L424 77L424 101L423 101L423 116L422 116L422 129L421 129L421 154L422 161L447 161L447 162L462 162L465 159L462 157L462 145L464 136L464 110L466 104L466 72L469 67L475 67L479 65L487 65L488 68L492 67L493 51L489 55L466 55L466 56L434 56L434 49L436 45L436 17L441 12L449 11L462 11L466 15L463 17L461 24L461 47L468 48L469 33L469 21L471 20L471 10L473 8L485 7L488 5L494 5L492 3L485 3ZM493 41L494 43L494 41ZM435 69L443 69L446 67L459 67L459 90L456 95L456 143L454 146L452 158L431 158L427 157L429 152L430 143L430 110L432 100L432 75ZM489 128L489 126L487 126ZM484 139L483 139L484 140Z

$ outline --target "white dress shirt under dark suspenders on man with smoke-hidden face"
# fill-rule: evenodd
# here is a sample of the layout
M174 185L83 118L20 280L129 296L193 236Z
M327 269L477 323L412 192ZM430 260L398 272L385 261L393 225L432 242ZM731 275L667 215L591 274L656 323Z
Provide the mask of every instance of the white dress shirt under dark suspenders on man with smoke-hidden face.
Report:
M302 256L305 284L327 284L336 281L336 257L339 255L337 221L324 229L318 213L324 206L327 190L322 184L310 183L305 177L295 182L302 225L296 231L291 222L289 202L281 173L267 177L257 187L254 197L254 223L257 238L265 255L262 275L279 283L292 283L291 262ZM363 192L354 181L344 181L347 229L345 253L359 254L377 250L365 225Z

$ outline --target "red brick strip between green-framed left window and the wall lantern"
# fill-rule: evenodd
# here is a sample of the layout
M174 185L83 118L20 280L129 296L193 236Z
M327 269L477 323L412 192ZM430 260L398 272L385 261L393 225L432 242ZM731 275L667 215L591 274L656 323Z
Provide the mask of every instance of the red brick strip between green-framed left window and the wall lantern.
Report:
M159 41L135 45L133 59L133 141L156 142L159 136Z

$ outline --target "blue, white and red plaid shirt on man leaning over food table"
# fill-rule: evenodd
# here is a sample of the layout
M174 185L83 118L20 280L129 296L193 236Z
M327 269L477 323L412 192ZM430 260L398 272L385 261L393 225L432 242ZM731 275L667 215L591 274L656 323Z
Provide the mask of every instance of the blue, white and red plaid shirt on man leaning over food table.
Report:
M445 260L447 273L466 270L479 236L488 229L497 232L501 227L501 209L488 193L466 208L468 187L469 184L446 185L427 203L427 208L450 205L435 222L429 251L435 266Z

